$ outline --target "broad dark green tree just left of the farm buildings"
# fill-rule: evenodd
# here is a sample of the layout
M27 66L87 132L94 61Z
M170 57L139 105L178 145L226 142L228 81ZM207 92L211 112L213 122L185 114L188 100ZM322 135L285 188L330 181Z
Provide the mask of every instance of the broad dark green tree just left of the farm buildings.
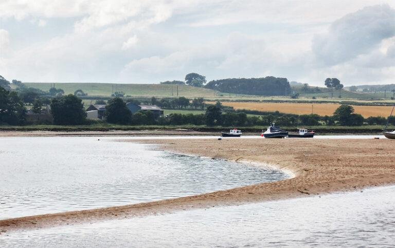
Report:
M73 94L52 99L51 113L56 125L83 124L86 118L81 99Z

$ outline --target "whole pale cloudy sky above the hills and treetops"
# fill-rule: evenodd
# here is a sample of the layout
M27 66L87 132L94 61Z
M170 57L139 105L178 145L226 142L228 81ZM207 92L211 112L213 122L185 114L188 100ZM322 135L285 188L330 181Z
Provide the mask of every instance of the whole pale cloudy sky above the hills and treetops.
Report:
M395 0L2 0L0 10L9 80L395 83Z

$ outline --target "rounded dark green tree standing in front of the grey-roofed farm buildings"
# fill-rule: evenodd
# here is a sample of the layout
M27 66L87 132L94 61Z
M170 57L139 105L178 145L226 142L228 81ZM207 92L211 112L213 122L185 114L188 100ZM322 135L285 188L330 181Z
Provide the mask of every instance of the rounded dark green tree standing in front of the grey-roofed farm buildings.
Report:
M114 124L129 124L132 113L121 98L113 98L105 107L107 122Z

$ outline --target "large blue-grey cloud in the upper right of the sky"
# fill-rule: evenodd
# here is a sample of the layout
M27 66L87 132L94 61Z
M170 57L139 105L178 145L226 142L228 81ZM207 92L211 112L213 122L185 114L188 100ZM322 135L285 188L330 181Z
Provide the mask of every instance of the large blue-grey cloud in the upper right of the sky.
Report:
M312 50L317 63L336 65L366 54L395 35L395 9L365 7L335 21L325 34L315 35Z

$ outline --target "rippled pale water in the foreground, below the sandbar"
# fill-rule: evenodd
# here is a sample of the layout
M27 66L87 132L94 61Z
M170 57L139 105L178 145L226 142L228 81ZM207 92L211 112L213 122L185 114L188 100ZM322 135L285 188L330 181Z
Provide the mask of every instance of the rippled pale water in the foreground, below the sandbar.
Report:
M395 186L0 235L6 246L387 246Z

